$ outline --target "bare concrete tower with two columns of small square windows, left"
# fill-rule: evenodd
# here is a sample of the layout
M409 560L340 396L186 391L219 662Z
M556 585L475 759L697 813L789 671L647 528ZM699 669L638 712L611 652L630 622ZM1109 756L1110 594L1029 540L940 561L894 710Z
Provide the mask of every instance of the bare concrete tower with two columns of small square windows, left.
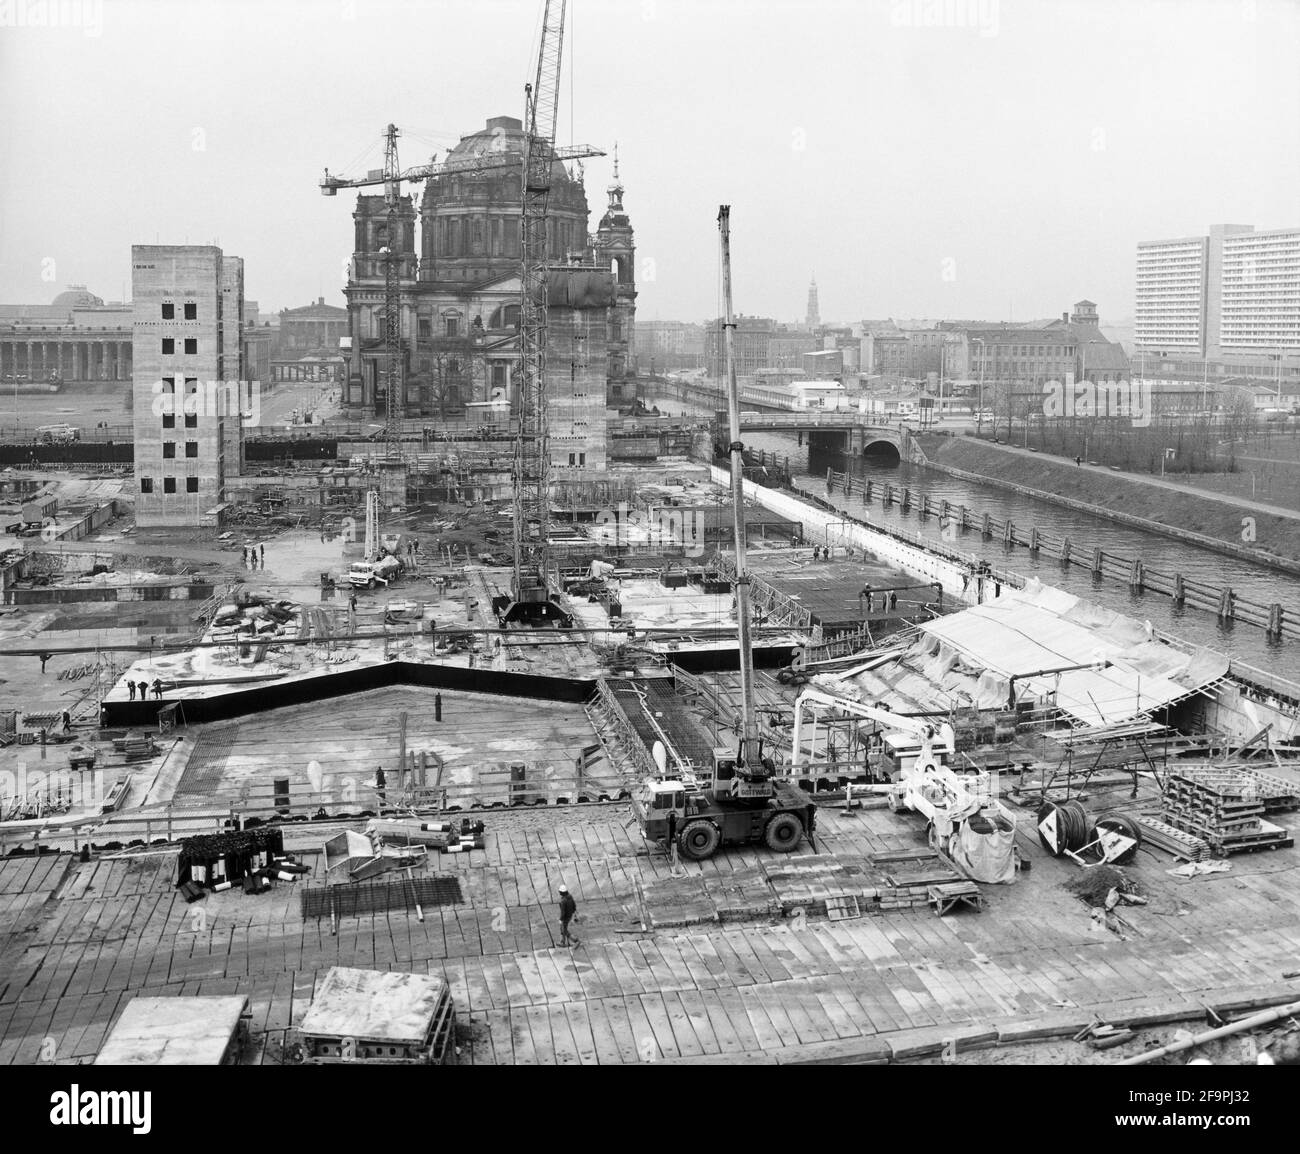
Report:
M131 295L135 524L218 525L242 455L243 261L135 244Z

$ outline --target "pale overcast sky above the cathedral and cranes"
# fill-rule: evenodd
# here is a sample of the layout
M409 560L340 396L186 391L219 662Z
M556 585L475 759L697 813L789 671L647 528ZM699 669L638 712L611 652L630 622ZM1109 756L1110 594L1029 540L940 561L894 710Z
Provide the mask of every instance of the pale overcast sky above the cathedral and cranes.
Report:
M408 165L521 116L541 9L0 0L0 301L218 243L263 309L342 304L321 170L378 166L389 121ZM558 140L619 142L640 318L716 314L720 203L737 311L783 320L815 273L824 320L1119 321L1138 240L1300 225L1294 0L571 0L568 30Z

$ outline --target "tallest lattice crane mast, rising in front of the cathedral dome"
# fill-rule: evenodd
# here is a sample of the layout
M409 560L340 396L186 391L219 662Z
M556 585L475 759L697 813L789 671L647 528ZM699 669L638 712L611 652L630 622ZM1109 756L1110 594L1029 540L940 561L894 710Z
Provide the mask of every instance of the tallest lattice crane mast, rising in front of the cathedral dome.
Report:
M545 600L550 569L550 446L545 376L549 259L546 222L555 162L555 114L564 53L564 13L566 0L554 4L546 0L537 74L533 83L524 88L519 425L515 439L516 600ZM526 590L532 590L532 595Z

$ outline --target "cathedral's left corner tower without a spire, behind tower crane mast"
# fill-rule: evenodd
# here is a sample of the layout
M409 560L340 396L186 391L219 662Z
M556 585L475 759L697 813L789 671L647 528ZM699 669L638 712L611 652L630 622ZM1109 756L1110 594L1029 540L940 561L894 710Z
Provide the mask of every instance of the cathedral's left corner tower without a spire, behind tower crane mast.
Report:
M348 331L352 337L344 404L365 412L377 413L385 408L384 296L385 259L389 248L399 255L402 348L403 356L407 357L403 378L410 381L410 342L415 327L411 288L416 278L415 204L410 196L398 198L396 217L396 235L390 238L389 212L384 198L356 198L356 211L352 213L356 238L347 287L343 290L347 298ZM407 396L410 403L410 389Z

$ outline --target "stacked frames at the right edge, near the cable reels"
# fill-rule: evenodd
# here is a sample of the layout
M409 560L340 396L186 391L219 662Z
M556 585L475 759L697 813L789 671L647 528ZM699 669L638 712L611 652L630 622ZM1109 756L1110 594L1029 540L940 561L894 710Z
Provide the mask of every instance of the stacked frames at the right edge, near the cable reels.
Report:
M1286 799L1294 794L1294 786L1284 782L1271 786L1248 769L1179 769L1165 782L1162 817L1218 858L1282 849L1295 845L1295 838L1280 825L1264 820L1265 798L1277 810L1286 807ZM1208 854L1193 860L1204 856Z

